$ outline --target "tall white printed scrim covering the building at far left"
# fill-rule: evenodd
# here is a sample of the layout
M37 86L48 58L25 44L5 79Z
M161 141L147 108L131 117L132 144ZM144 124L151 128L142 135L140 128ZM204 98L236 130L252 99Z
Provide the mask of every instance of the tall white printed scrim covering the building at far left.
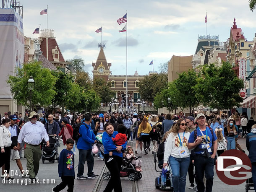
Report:
M0 8L0 99L12 99L8 75L24 63L23 18L14 9Z

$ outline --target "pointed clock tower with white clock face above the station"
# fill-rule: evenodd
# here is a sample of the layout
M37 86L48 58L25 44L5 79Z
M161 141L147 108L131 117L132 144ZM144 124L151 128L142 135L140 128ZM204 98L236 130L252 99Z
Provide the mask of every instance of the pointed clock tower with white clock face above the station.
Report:
M103 47L100 47L97 60L96 62L93 62L91 65L93 66L93 70L91 71L93 78L101 77L107 82L108 76L111 74L111 62L107 62Z

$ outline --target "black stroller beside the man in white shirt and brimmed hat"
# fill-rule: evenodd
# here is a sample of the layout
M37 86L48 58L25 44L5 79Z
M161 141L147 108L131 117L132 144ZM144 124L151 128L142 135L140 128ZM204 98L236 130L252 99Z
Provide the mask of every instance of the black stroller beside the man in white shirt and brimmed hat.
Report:
M52 163L57 160L59 162L58 157L58 147L57 147L57 137L54 135L48 135L50 146L46 147L46 142L44 141L42 147L42 162L44 163L45 160L51 161Z

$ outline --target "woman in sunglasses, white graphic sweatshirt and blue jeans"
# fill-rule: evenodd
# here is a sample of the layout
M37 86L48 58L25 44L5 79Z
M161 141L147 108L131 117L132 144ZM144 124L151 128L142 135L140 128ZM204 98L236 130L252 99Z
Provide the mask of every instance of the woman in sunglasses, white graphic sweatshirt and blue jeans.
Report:
M172 169L172 184L174 192L185 192L186 176L190 164L188 139L190 132L184 119L179 119L170 130L167 138L163 167Z

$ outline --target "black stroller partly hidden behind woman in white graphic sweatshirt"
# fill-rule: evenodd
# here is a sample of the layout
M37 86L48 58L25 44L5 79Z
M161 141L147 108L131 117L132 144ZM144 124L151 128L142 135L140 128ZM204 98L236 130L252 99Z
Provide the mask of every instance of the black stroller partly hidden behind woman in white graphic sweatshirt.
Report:
M157 171L157 154L154 153L154 163L155 163L155 170ZM162 165L158 165L159 169L163 169L163 166ZM156 177L155 179L155 187L157 189L160 189L160 187L162 189L164 189L165 187L171 187L171 190L170 191L173 191L173 187L172 187L172 171L167 171L166 173L166 186L163 188L162 187L162 171L157 171L159 174L159 176Z

